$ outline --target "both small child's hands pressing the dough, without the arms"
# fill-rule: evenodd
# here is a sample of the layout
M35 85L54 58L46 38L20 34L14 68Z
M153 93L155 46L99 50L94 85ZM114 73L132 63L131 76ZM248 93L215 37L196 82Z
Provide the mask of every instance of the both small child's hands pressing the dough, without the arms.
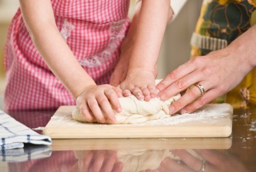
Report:
M122 91L123 90L123 91ZM134 94L138 100L149 101L155 98L155 77L150 71L133 70L127 73L125 80L119 87L112 85L89 85L85 91L77 97L77 106L87 121L98 121L105 123L106 118L115 122L115 115L112 110L121 112L121 105L118 97L127 97ZM102 111L104 113L102 113Z

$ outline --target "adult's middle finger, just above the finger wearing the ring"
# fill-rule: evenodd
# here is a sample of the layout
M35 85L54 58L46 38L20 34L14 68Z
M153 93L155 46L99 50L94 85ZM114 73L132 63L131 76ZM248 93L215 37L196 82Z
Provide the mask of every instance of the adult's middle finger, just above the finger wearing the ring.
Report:
M160 92L158 96L160 97L161 100L165 101L171 96L174 96L177 93L185 91L187 88L191 87L195 83L198 83L202 79L203 75L201 74L201 72L192 72L191 74L188 74L187 76L184 76L179 80L176 80L173 84L164 89L164 91Z

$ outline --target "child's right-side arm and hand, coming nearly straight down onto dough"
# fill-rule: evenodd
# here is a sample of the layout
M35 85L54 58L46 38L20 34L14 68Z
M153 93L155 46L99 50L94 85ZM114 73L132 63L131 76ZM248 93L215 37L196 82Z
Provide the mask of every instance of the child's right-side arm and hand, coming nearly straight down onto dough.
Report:
M120 85L123 90L127 89L125 96L131 92L146 101L155 97L154 67L168 19L170 0L142 0L129 69Z

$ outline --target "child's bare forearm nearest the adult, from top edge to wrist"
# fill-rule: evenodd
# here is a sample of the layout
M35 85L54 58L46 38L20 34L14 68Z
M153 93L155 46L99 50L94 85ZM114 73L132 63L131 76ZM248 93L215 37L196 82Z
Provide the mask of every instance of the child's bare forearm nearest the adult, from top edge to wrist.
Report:
M140 11L138 12L138 10ZM133 20L130 28L135 33L133 34L134 48L131 53L129 68L154 70L169 13L170 0L142 1L142 7L137 9L134 16L136 25ZM136 29L133 27L136 27Z

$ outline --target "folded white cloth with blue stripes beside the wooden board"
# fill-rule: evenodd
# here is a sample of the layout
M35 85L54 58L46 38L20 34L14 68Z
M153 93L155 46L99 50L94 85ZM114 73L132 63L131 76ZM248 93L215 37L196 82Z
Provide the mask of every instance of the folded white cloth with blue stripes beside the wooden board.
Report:
M52 144L51 137L40 135L0 110L0 150L23 148L24 143Z

